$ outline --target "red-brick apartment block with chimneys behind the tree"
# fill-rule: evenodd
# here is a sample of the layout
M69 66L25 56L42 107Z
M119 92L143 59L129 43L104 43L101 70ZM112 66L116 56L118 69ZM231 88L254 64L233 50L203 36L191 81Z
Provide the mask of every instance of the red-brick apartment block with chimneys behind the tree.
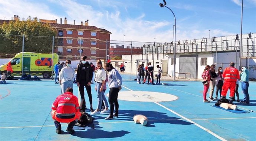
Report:
M19 20L16 16L13 19ZM4 21L8 22L9 20L0 20L0 24L3 24ZM88 26L88 20L84 24L81 22L80 25L67 24L66 18L64 24L62 24L62 19L60 19L60 23L57 23L57 20L40 19L39 21L49 23L50 26L56 28L58 44L54 52L59 54L60 59L80 60L80 51L81 56L86 55L88 60L104 60L106 51L109 54L111 32L95 26Z

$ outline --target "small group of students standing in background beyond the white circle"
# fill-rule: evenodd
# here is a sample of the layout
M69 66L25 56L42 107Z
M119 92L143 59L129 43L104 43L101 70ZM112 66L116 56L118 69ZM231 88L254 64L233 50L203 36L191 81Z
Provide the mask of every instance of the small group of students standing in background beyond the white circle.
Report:
M160 84L161 73L163 72L161 67L157 65L157 82L155 84ZM144 78L145 76L145 78ZM141 84L140 80L142 77L142 84L145 84L146 80L148 85L152 83L154 85L154 67L151 66L151 63L147 63L147 66L144 68L144 64L140 64L137 68L137 83ZM151 78L150 78L151 77ZM159 81L158 81L159 80Z

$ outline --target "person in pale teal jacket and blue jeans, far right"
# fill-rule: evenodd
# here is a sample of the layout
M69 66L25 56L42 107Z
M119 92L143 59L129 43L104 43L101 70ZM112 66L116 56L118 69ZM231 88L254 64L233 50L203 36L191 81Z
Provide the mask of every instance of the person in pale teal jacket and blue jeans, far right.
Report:
M240 74L240 78L241 78L241 87L242 87L242 90L243 90L243 95L244 95L244 98L243 100L241 101L241 103L243 104L250 104L250 96L249 96L249 93L248 93L248 88L249 88L249 71L247 70L246 67L242 67L241 68L241 71L239 71L239 74Z

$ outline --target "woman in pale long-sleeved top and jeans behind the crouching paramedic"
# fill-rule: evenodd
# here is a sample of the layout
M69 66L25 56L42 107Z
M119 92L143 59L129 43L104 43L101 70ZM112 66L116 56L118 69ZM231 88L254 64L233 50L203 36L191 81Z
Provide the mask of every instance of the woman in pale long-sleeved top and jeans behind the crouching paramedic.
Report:
M66 67L62 68L59 73L59 81L61 86L61 93L65 93L66 88L73 88L73 79L75 75L75 69L71 67L71 61L66 60Z

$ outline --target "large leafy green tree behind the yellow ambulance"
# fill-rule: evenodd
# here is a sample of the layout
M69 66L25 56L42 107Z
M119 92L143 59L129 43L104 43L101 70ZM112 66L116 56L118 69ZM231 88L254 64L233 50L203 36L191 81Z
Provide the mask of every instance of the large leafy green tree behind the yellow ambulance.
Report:
M56 36L57 31L47 23L38 22L36 17L33 19L29 17L26 21L9 21L0 26L0 53L21 52L23 34L25 36L24 51L52 52L52 36Z

